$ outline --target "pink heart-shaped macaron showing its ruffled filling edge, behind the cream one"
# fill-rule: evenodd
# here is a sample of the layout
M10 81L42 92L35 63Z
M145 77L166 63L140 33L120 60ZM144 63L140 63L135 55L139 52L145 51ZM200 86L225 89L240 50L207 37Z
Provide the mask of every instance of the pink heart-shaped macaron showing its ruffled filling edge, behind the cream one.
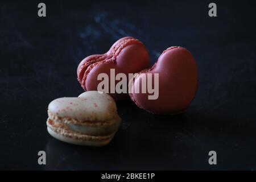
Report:
M147 49L142 42L133 37L125 37L117 40L108 52L102 55L91 55L85 57L77 68L77 79L84 90L98 90L98 80L100 73L106 73L109 77L110 93L110 69L114 69L115 75L125 73L127 78L129 73L137 73L148 68L150 57ZM115 79L115 78L114 78ZM127 79L127 82L129 80ZM117 84L115 80L114 86ZM128 88L128 87L127 87ZM112 88L113 89L113 88ZM114 88L115 90L115 88ZM126 93L110 93L115 100L122 100L128 96Z

